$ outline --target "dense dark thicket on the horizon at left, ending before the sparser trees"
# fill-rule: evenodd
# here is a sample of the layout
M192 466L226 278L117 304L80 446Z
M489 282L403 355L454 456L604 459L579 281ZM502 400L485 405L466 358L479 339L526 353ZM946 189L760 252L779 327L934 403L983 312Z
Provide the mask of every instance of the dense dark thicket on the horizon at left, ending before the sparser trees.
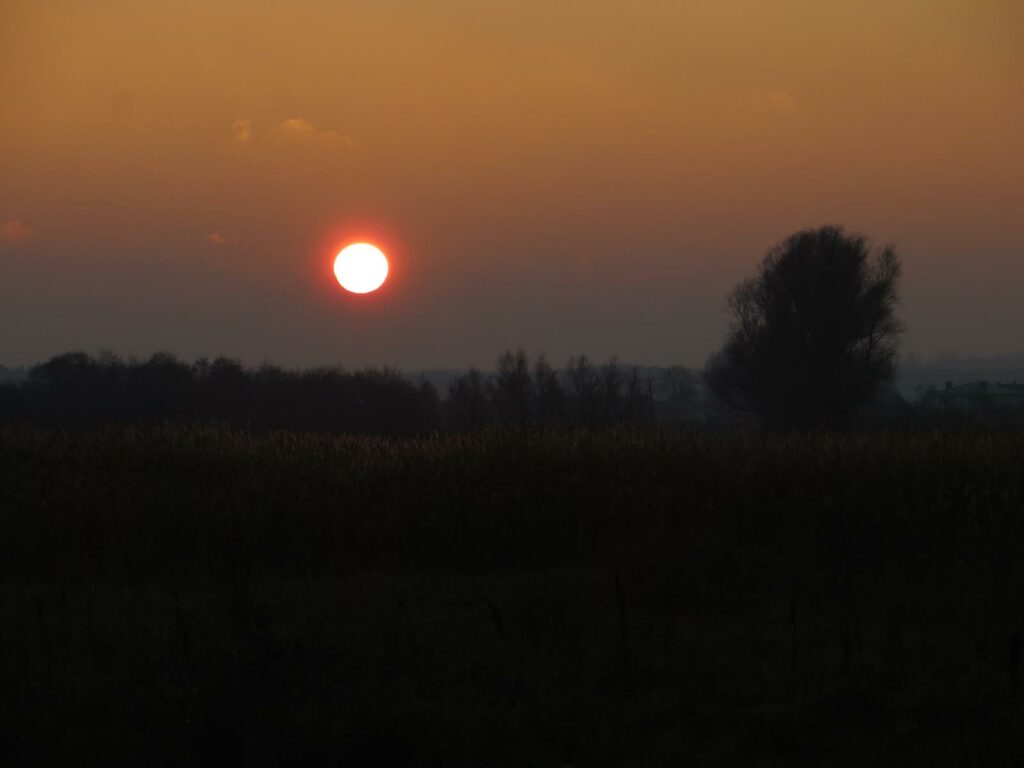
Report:
M60 427L222 422L234 427L417 434L439 427L437 394L393 370L250 370L218 357L142 362L63 354L0 387L0 421Z

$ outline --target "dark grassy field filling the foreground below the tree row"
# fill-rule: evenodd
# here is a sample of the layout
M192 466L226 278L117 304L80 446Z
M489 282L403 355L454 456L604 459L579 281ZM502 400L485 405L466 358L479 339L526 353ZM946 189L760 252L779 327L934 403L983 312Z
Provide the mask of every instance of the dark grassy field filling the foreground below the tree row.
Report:
M1013 765L1024 432L0 429L10 764Z

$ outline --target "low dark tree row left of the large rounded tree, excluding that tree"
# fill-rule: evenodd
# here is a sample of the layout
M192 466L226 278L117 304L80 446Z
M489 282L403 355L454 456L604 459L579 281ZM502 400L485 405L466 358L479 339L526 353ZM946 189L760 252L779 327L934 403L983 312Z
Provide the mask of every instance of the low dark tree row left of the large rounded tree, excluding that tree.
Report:
M655 401L655 395L657 397ZM0 385L0 422L96 427L219 422L245 429L423 434L487 425L596 426L696 418L697 376L656 373L586 355L554 369L508 350L494 373L470 369L443 396L394 369L288 371L218 357L195 362L158 353L145 360L71 352Z

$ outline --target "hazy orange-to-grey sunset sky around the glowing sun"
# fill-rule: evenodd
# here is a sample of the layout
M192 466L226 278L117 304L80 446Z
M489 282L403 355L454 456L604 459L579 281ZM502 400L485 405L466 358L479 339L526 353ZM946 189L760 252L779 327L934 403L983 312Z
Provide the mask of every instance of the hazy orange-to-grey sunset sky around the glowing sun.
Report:
M700 365L824 223L1024 349L1024 2L0 0L0 364Z

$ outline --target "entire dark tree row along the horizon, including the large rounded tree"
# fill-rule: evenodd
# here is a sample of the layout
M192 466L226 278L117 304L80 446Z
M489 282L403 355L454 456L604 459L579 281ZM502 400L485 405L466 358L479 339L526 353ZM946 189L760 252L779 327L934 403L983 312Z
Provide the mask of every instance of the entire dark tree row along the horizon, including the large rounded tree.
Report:
M66 354L20 386L0 386L0 419L55 425L222 421L250 428L384 434L489 424L578 425L725 421L773 428L842 428L935 420L896 394L903 324L901 262L839 226L798 231L771 248L728 299L731 324L702 376L508 350L443 393L392 369L246 369L223 357L185 364ZM943 414L942 418L948 418Z

